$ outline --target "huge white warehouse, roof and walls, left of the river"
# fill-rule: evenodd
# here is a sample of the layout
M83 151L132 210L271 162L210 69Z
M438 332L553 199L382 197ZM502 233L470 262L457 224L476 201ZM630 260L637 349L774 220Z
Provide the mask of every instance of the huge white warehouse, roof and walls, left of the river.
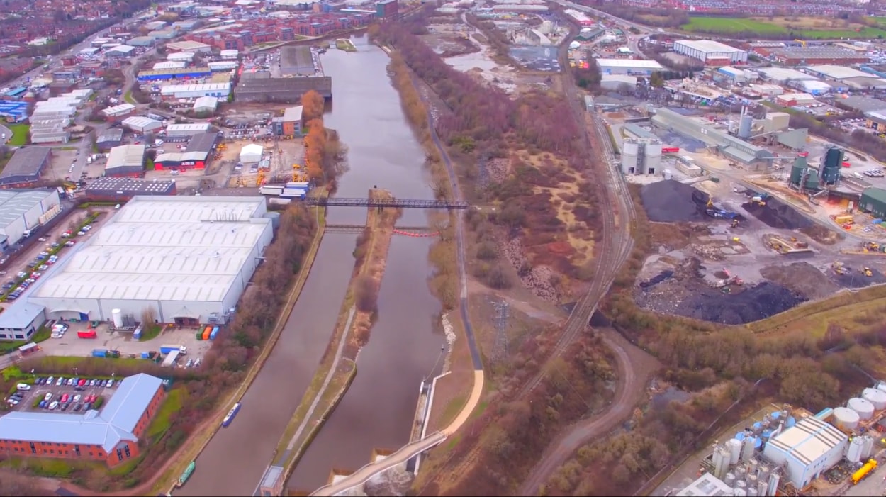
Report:
M110 321L115 309L179 324L221 319L274 236L260 197L139 196L90 234L27 297L47 319Z

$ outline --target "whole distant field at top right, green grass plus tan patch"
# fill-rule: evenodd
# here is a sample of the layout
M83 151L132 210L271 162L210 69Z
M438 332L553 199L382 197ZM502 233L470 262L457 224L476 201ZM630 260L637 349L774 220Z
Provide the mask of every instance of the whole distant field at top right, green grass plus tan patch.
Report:
M747 19L725 17L694 17L681 26L686 31L712 35L759 34L770 37L784 35L785 39L803 38L829 40L839 38L886 38L886 30L862 24L833 26L831 19Z

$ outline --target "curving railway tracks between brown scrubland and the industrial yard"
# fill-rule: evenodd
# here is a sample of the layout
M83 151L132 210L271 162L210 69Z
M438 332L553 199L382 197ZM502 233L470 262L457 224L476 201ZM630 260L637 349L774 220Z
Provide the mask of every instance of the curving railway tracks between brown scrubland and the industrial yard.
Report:
M561 64L563 67L569 67L566 60L567 43L563 43L561 48ZM563 63L565 63L563 65ZM563 77L563 90L566 98L569 100L570 109L573 119L579 123L582 128L582 136L588 151L594 151L594 140L591 138L591 132L584 126L584 113L587 111L581 105L579 100L579 92L575 88L575 82L572 81L571 75ZM618 274L621 266L627 260L633 249L633 239L631 238L631 227L633 226L634 214L631 205L630 194L628 193L621 176L610 166L610 159L613 157L609 137L604 135L602 126L599 121L594 119L595 134L600 140L600 146L606 151L602 165L606 172L607 187L603 189L602 206L603 206L603 242L602 250L596 255L595 262L595 280L591 283L591 288L587 293L579 299L566 321L563 335L557 340L554 351L548 357L548 361L556 359L566 352L566 349L575 341L582 330L587 328L591 316L600 303L602 297L609 291L615 276ZM619 225L616 226L616 215L619 217ZM520 391L520 396L532 392L545 377L544 368L525 384Z

